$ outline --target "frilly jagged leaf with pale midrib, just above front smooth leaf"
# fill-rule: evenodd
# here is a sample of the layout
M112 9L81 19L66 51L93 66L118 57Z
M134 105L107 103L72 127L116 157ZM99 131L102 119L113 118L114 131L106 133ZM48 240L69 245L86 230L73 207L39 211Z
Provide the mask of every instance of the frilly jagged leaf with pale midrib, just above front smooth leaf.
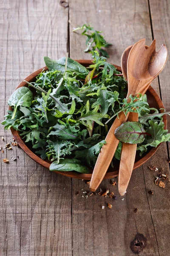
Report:
M50 160L50 157L52 157L51 161L57 160L57 163L59 163L59 160L65 157L65 155L71 154L71 148L75 145L75 143L64 140L57 140L55 142L48 140L47 142L48 145L46 146L46 155L48 160Z

